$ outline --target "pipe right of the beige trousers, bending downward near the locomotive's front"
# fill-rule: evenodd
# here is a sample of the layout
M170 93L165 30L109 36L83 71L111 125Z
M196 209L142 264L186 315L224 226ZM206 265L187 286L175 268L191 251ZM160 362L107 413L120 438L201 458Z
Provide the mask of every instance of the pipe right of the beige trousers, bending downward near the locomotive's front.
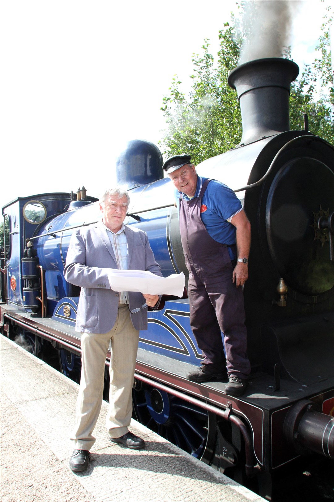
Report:
M108 364L108 363L107 363ZM184 401L187 401L188 403L192 403L199 408L203 408L206 411L210 411L211 413L214 413L215 415L218 415L219 417L222 417L224 420L230 421L233 424L235 424L239 431L242 434L242 437L245 442L245 456L246 456L246 475L248 477L253 477L254 475L258 474L261 470L261 467L259 464L254 465L254 454L253 454L253 449L252 449L252 441L251 441L251 433L248 430L247 426L243 423L243 421L238 418L236 415L233 415L232 412L232 405L228 401L225 410L222 410L221 408L217 408L215 406L209 405L207 403L204 403L203 401L200 401L199 399L193 398L191 396L188 396L187 394L183 394L182 392L176 391L174 389L171 389L170 387L167 387L163 384L160 384L154 380L148 379L146 376L143 376L139 373L135 373L135 379L141 380L142 382L151 385L153 387L156 387L157 389L160 389L162 391L167 392L168 394L172 394L173 396L176 396L180 399L183 399Z

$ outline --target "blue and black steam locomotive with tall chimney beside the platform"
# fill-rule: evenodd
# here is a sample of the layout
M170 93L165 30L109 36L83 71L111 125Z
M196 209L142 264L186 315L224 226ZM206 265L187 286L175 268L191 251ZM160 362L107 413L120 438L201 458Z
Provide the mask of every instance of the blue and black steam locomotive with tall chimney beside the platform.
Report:
M241 143L196 168L233 188L251 223L246 393L233 398L225 383L186 380L201 362L186 288L183 298L163 297L158 311L149 310L133 388L139 422L238 482L257 484L267 499L298 458L305 466L314 454L334 459L334 148L308 132L306 119L303 131L289 129L298 71L280 58L235 68L228 83L240 102ZM118 158L117 184L130 194L125 223L147 232L165 277L187 276L162 164L159 149L140 140ZM3 215L10 237L1 332L40 357L57 355L63 373L79 381L80 290L63 270L73 230L99 219L98 200L84 188L38 194L10 202Z

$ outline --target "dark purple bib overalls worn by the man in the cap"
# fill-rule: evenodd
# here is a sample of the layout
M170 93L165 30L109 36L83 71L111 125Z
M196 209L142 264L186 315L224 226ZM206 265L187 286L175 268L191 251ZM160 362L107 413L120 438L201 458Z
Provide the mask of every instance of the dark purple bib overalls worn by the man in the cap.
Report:
M215 372L223 370L222 331L228 374L247 379L250 364L242 287L232 283L228 246L214 240L201 220L202 197L209 181L203 183L198 197L180 198L180 232L189 271L190 326L202 350L203 364L213 364Z

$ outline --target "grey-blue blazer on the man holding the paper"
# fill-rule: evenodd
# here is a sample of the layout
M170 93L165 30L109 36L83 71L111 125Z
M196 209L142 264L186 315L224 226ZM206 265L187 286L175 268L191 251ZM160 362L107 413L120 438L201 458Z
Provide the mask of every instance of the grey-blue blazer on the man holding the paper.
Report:
M127 225L125 234L129 248L129 270L148 270L162 276L147 234ZM108 269L118 269L118 266L102 220L76 230L70 240L64 269L65 279L81 286L76 331L108 333L114 326L119 293L110 288ZM141 293L129 292L130 310L144 303L145 298ZM147 309L130 315L135 329L147 329Z

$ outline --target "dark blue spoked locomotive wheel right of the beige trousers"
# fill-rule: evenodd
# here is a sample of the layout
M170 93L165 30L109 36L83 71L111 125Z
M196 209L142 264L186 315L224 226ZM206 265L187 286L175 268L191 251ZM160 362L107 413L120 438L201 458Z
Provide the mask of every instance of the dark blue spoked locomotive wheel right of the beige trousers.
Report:
M150 386L135 387L132 395L138 422L194 457L210 462L216 439L215 415Z

